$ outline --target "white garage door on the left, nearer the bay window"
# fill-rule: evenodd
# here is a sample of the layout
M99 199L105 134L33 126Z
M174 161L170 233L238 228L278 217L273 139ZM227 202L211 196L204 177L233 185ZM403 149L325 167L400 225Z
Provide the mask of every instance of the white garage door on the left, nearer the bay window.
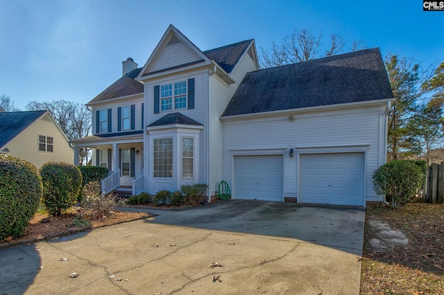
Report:
M282 155L234 157L234 196L282 202L282 175Z

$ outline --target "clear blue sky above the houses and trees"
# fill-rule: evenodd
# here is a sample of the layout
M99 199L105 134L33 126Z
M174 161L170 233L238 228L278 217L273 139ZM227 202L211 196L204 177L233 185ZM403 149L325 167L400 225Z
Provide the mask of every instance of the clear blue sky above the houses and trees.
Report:
M251 38L259 51L311 28L425 66L444 62L444 11L423 12L420 0L0 0L0 94L20 109L85 104L121 77L127 57L143 66L169 24L202 51Z

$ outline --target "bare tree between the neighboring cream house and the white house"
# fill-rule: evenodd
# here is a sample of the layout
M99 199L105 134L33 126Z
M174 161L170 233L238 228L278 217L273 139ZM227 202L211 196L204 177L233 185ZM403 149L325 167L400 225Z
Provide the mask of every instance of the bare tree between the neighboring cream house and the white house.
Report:
M78 102L69 102L67 100L39 102L34 100L28 102L26 109L28 111L46 109L51 111L51 114L70 141L91 135L91 112ZM80 151L89 152L89 149L83 147Z

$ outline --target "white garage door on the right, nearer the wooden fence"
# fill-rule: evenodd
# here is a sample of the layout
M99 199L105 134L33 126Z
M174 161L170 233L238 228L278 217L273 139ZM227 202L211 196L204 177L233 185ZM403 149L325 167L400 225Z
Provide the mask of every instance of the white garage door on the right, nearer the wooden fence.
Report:
M364 153L301 154L300 202L364 206Z

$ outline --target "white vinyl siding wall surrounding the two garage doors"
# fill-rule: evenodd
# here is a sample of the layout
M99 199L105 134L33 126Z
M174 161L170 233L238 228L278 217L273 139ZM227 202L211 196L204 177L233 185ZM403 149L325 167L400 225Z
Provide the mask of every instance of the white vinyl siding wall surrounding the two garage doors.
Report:
M290 159L290 148L296 154L298 149L310 147L332 147L330 150L341 152L350 146L365 146L366 200L378 201L379 197L373 190L372 175L375 169L384 164L379 157L379 138L383 140L379 136L379 116L384 116L384 110L385 105L379 105L295 113L294 120L289 120L289 115L225 120L223 179L231 179L230 151L283 148L287 150L284 155L284 197L298 197L298 157Z

